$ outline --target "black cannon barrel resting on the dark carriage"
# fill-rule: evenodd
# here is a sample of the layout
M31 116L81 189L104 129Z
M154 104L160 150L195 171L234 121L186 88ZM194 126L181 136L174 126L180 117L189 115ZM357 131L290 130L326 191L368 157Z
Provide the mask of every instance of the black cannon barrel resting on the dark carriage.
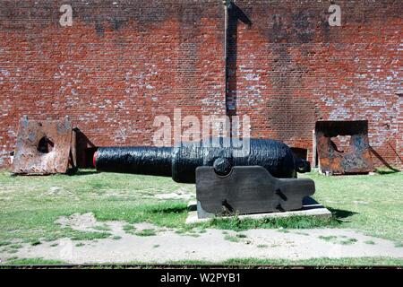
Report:
M296 178L296 172L310 170L308 161L295 158L287 144L279 141L244 140L244 144L249 143L245 153L235 153L239 149L229 138L210 139L209 143L182 143L177 147L99 147L94 154L94 165L99 171L172 177L180 183L195 183L196 169L201 166L213 166L222 176L234 166L262 166L276 178Z

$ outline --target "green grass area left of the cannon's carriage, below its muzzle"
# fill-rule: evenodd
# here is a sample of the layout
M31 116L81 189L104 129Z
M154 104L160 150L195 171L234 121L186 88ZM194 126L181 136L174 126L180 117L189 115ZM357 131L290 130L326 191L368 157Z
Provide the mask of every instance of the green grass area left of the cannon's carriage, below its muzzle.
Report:
M58 187L52 193L51 187ZM155 200L150 196L189 188L170 178L99 174L81 171L76 176L14 177L0 171L0 242L23 239L51 241L105 239L111 236L103 225L99 231L63 228L55 221L73 213L94 213L99 221L153 222L160 226L184 225L186 203ZM150 197L150 198L149 198Z

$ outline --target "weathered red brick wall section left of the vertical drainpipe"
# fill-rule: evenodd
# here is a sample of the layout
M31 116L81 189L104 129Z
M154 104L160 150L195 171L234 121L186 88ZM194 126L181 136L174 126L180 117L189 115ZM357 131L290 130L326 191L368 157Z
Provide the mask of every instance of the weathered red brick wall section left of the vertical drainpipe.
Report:
M0 165L24 114L69 115L96 145L151 144L154 117L176 107L225 114L219 1L0 3Z

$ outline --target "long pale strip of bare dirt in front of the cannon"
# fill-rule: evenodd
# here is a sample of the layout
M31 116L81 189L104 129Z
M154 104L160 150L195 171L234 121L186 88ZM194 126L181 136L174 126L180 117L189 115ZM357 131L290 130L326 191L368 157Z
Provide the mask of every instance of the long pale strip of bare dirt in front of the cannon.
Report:
M0 253L0 260L8 257L63 260L73 264L84 263L166 263L179 260L221 262L231 258L309 259L338 257L399 257L403 248L393 241L365 236L356 230L233 230L206 229L197 237L177 233L175 229L161 228L150 223L131 224L135 232L127 233L127 222L97 222L92 213L75 213L58 219L60 224L76 230L91 230L106 225L112 235L108 239L59 239L31 246L23 244L13 255ZM141 230L155 230L155 235L137 236ZM197 230L197 229L195 229ZM235 237L236 242L226 237ZM349 244L339 240L354 239ZM369 245L365 242L373 241ZM156 248L158 246L158 248Z

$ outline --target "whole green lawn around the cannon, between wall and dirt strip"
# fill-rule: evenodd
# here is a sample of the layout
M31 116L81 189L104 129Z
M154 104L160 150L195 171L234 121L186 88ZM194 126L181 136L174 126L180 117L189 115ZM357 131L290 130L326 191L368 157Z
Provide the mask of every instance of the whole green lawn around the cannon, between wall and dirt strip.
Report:
M382 174L381 174L382 173ZM0 246L13 239L44 242L68 237L75 240L105 239L112 236L106 225L97 231L79 231L55 223L60 216L94 213L98 221L124 221L128 224L150 222L167 228L248 230L253 228L309 229L339 227L403 244L403 173L380 172L373 176L325 177L308 173L313 178L313 196L333 213L331 219L289 218L240 220L239 217L214 219L211 222L184 224L187 202L159 200L155 195L178 189L195 195L194 185L175 183L171 178L140 175L96 173L81 170L77 175L48 177L13 177L0 171ZM57 187L57 188L55 188ZM56 191L55 191L56 190ZM134 232L135 230L125 230ZM201 231L202 232L202 231Z

